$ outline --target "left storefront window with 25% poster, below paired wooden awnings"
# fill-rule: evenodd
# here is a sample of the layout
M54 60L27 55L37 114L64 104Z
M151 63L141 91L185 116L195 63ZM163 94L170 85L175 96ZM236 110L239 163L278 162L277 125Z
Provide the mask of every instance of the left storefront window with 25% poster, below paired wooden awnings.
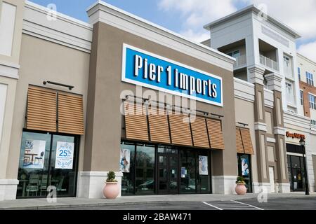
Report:
M76 146L76 137L23 132L17 197L46 197L48 186L58 196L74 197Z

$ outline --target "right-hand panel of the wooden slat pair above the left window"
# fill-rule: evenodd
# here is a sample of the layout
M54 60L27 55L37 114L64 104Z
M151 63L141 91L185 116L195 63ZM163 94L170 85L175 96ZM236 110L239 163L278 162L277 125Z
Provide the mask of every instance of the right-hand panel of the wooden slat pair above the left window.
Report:
M58 92L58 132L84 134L82 96Z

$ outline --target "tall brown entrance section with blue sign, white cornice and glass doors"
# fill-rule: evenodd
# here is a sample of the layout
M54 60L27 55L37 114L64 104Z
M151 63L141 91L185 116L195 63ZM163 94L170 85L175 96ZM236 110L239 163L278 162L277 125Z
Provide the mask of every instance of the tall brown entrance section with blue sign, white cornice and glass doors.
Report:
M112 13L105 3L88 10L91 139L79 189L104 179L102 170L120 170L121 195L233 193L233 59L120 10Z

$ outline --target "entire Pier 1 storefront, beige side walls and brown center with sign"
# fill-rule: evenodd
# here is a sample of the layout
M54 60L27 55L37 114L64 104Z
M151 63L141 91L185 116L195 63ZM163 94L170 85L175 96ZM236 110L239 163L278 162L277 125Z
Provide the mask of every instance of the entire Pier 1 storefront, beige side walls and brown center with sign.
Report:
M272 111L273 94L256 87L258 101L233 77L235 59L107 3L89 23L23 7L6 200L52 186L102 198L110 171L121 195L234 194L237 176L249 193L267 184L258 109Z

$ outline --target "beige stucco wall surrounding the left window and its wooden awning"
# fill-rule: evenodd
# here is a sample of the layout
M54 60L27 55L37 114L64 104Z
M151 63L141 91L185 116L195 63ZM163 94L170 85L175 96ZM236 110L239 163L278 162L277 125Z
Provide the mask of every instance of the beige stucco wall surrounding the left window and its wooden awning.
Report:
M84 96L84 110L86 110L89 69L88 53L23 34L20 65L20 79L18 80L13 114L15 119L6 172L6 176L9 179L17 179L18 175L20 141L22 128L25 123L27 88L29 84L44 86L44 80L51 80L57 83L74 85L74 89L70 92ZM54 85L46 87L68 91L65 87ZM84 111L84 114L86 114L86 111ZM84 120L86 120L86 116ZM81 137L80 141L79 170L82 169L82 155L84 155L84 136Z

